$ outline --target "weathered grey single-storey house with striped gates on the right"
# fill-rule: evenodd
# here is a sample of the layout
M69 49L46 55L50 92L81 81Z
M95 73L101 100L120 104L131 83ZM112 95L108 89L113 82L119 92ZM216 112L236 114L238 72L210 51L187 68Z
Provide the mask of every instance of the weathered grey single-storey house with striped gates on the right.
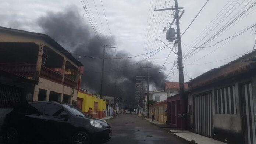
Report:
M188 129L229 144L256 143L256 51L189 82Z

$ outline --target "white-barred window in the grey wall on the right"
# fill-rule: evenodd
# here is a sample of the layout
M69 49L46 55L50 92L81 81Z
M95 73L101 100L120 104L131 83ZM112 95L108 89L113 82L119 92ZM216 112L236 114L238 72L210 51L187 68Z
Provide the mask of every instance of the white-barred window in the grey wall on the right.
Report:
M236 114L235 86L215 90L216 114Z

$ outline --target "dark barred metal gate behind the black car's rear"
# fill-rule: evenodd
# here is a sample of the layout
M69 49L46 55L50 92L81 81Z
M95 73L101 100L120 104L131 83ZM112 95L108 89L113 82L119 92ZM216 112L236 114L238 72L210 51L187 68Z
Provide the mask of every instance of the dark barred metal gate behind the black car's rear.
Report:
M22 93L22 89L18 87L0 84L0 126L4 121L5 115L19 104Z

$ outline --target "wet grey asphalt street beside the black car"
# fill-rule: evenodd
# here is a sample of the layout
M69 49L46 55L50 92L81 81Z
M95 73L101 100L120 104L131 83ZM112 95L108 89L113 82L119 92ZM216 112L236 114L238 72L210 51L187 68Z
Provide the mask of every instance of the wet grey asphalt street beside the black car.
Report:
M189 144L136 115L120 115L109 124L113 133L106 144Z

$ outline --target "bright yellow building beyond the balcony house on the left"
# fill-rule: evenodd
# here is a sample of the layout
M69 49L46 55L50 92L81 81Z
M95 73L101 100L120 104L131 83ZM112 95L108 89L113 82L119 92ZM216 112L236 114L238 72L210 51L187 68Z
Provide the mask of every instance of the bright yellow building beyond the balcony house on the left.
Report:
M92 108L92 116L103 118L106 116L106 101L100 100L97 96L78 91L77 107L88 114L89 108Z

